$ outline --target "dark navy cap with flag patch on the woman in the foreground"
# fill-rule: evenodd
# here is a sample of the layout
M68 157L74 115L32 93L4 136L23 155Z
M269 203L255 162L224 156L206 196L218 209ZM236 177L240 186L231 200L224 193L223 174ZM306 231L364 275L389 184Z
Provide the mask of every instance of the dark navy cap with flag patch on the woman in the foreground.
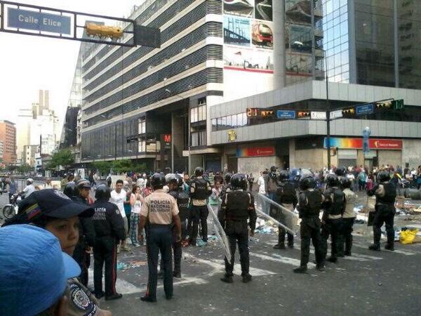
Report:
M53 218L73 216L91 217L95 211L88 205L73 202L63 192L44 189L33 192L19 203L19 214L27 213L28 219L42 214Z

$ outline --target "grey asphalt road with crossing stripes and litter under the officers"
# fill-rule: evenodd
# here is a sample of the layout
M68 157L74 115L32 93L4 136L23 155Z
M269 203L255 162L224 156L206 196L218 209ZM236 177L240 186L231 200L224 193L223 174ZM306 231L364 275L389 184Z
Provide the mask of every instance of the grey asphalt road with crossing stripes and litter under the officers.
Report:
M0 198L0 204L4 196ZM356 231L366 230L356 225ZM119 254L118 301L100 300L113 315L419 315L421 310L421 244L395 243L396 251L367 249L370 235L354 236L353 256L328 264L324 272L309 265L305 275L295 249L275 250L275 234L256 234L250 242L250 274L243 284L239 264L234 284L220 281L224 273L218 243L183 248L182 279L175 279L174 298L167 301L162 280L156 303L144 303L147 264L145 246ZM238 262L238 253L236 254ZM312 255L310 261L314 260ZM93 267L93 261L92 265ZM90 270L93 284L93 270Z

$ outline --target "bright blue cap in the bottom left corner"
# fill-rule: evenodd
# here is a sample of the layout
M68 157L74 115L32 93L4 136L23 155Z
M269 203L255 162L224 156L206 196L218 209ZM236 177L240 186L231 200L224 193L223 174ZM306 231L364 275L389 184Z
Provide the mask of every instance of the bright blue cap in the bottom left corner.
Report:
M0 315L47 310L81 269L51 232L34 225L0 228Z

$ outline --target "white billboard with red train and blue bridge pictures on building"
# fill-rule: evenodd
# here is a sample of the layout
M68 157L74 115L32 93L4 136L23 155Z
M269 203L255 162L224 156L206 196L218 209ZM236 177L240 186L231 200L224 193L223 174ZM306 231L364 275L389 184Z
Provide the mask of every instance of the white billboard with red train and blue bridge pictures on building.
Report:
M224 1L225 101L272 90L272 18L272 0Z

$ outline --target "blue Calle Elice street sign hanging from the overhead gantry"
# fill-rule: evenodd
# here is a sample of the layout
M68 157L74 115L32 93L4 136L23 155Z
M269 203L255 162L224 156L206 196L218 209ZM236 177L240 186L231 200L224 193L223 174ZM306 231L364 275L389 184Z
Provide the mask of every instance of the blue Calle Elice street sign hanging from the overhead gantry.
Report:
M69 16L8 8L8 27L70 34L70 25L71 19Z

